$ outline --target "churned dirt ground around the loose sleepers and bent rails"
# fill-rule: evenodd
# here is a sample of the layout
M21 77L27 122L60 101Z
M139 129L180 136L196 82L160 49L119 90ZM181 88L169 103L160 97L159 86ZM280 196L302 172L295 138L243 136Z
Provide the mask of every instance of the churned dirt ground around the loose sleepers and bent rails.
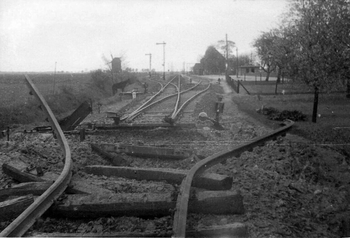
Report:
M194 80L198 77L192 76ZM224 131L215 129L193 130L149 130L104 132L87 136L81 143L76 135L67 136L74 158L77 175L93 179L106 189L118 192L138 193L173 189L161 183L121 178L103 178L91 176L83 171L85 165L107 165L102 157L91 151L91 142L123 142L131 144L162 144L169 148L193 150L193 156L180 162L164 161L154 158L138 158L122 155L132 167L163 167L189 169L201 159L228 149L234 145L250 141L272 131L273 128L241 112L233 103L233 97L243 97L231 91L223 80L216 83L217 76L211 76L213 87L197 103L193 121L199 126L210 126L209 121L200 121L198 114L207 112L212 116L217 95L223 95L224 113L220 122ZM106 111L118 111L132 102L130 98L109 99L100 109L85 121L107 121ZM276 125L278 126L278 125ZM62 168L62 155L57 142L51 137L38 134L18 133L11 142L1 142L0 163L11 158L24 162L34 159L47 163L40 154L50 157L50 168L59 172ZM44 142L44 143L43 143ZM45 147L44 147L45 146ZM47 152L46 152L47 151ZM52 152L53 151L53 152ZM34 153L35 152L35 153ZM228 158L224 164L209 169L210 172L233 177L232 190L238 190L243 196L245 214L243 215L203 215L190 214L187 225L224 225L231 222L243 222L248 227L249 237L346 237L350 236L349 197L350 167L342 154L329 147L316 146L310 141L287 133L277 141L269 141L265 146L241 154L239 158ZM16 184L11 178L0 172L0 186L5 188ZM128 188L125 190L125 188ZM145 231L154 229L171 230L172 217L141 219L135 217L98 218L96 220L69 220L43 218L40 232L113 232ZM2 223L0 230L7 223Z

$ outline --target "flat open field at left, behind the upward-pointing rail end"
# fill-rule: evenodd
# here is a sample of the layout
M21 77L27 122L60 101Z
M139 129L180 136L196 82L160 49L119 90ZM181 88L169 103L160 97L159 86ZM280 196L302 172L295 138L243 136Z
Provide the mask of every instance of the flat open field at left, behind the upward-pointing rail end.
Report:
M97 101L111 92L98 89L90 73L28 74L55 115L75 109L84 100ZM55 88L54 88L55 82ZM28 124L42 117L37 102L29 95L23 74L0 74L0 129L9 124ZM54 91L55 89L55 91Z

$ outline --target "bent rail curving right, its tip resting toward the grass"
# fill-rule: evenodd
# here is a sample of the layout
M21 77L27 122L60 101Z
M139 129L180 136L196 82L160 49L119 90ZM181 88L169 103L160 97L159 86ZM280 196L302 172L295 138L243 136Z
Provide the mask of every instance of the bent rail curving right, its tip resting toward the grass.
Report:
M286 124L286 122L289 123ZM174 237L185 237L186 235L188 200L190 187L194 176L200 176L200 174L203 173L205 170L223 161L224 159L227 159L228 156L237 157L242 152L246 150L252 150L254 147L259 146L262 142L274 139L280 134L285 134L286 131L294 124L294 122L291 120L286 120L283 123L285 124L285 126L276 129L273 132L268 133L267 135L259 136L255 138L252 142L249 142L248 144L234 146L232 149L224 150L214 155L211 155L195 164L189 170L186 178L182 180L182 183L180 185L180 193L176 201L175 215L173 221Z

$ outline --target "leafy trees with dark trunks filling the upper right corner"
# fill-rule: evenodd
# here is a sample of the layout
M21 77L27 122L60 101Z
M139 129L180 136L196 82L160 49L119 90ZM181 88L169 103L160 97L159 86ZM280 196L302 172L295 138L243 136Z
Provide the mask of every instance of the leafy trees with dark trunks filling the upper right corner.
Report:
M313 87L313 122L320 90L346 87L350 98L349 0L294 1L279 27L263 32L253 46L261 66L277 70L276 83L283 74Z

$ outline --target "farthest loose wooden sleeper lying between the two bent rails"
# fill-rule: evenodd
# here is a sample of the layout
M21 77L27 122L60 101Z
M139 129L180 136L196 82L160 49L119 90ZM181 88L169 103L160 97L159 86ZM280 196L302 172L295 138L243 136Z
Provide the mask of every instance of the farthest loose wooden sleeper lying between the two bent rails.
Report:
M125 153L127 155L157 157L168 159L185 159L192 155L192 150L161 148L151 146L133 146L121 143L103 143L97 144L100 148L107 152Z

